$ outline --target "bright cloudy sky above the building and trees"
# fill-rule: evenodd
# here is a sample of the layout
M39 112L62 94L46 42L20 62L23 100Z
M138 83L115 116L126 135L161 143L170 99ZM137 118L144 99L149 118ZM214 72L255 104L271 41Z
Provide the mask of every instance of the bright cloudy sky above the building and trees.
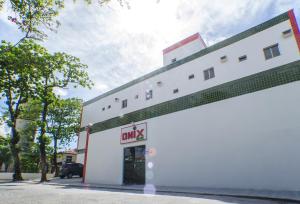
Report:
M162 50L196 32L208 46L294 8L300 21L300 0L116 0L101 7L94 1L66 0L57 32L41 42L50 52L66 52L88 65L95 83L89 89L56 93L84 101L162 67ZM22 36L0 13L0 40ZM0 127L4 131L3 127Z

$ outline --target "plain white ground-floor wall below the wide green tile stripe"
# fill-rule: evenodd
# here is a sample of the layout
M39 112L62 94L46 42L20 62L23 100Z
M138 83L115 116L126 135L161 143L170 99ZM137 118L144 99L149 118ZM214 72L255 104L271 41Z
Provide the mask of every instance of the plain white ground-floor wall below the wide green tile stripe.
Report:
M123 149L146 145L147 184L300 190L299 104L293 82L139 121L146 141L120 144L122 127L93 133L86 182L122 184Z

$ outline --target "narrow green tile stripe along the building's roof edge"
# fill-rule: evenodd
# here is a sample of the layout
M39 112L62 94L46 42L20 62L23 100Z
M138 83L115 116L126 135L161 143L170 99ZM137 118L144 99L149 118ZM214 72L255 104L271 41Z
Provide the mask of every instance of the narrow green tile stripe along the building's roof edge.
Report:
M127 84L124 84L124 85L122 85L122 86L120 86L118 88L115 88L115 89L113 89L111 91L108 91L108 92L106 92L106 93L104 93L104 94L102 94L100 96L97 96L97 97L95 97L95 98L93 98L93 99L91 99L89 101L86 101L86 102L83 103L83 105L87 106L87 105L89 105L91 103L94 103L94 102L96 102L96 101L98 101L98 100L100 100L100 99L102 99L102 98L104 98L106 96L109 96L109 95L112 95L114 93L117 93L117 92L119 92L119 91L121 91L123 89L126 89L126 88L128 88L130 86L133 86L134 84L142 82L142 81L144 81L146 79L149 79L149 78L151 78L153 76L156 76L156 75L158 75L158 74L160 74L162 72L165 72L165 71L168 71L170 69L176 68L176 67L178 67L178 66L180 66L182 64L185 64L185 63L190 62L190 61L192 61L194 59L197 59L199 57L207 55L207 54L209 54L211 52L219 50L219 49L221 49L223 47L231 45L231 44L233 44L235 42L243 40L243 39L245 39L245 38L247 38L249 36L252 36L252 35L254 35L256 33L259 33L259 32L261 32L263 30L266 30L266 29L268 29L268 28L270 28L270 27L272 27L274 25L277 25L277 24L279 24L279 23L281 23L283 21L286 21L288 19L289 19L288 12L285 12L285 13L283 13L283 14L275 17L275 18L272 18L272 19L270 19L270 20L268 20L268 21L260 24L260 25L252 27L252 28L250 28L250 29L248 29L248 30L246 30L246 31L244 31L242 33L239 33L239 34L237 34L235 36L232 36L232 37L230 37L230 38L228 38L228 39L226 39L224 41L221 41L221 42L216 43L216 44L214 44L214 45L212 45L210 47L207 47L207 48L205 48L205 49L203 49L203 50L201 50L201 51L199 51L199 52L197 52L195 54L192 54L192 55L190 55L190 56L188 56L188 57L186 57L184 59L178 60L178 61L176 61L176 62L174 62L172 64L169 64L169 65L167 65L165 67L162 67L160 69L154 70L153 72L150 72L150 73L148 73L148 74L146 74L146 75L144 75L144 76L142 76L140 78L137 78L137 79L135 79L135 80L133 80L133 81L127 83Z

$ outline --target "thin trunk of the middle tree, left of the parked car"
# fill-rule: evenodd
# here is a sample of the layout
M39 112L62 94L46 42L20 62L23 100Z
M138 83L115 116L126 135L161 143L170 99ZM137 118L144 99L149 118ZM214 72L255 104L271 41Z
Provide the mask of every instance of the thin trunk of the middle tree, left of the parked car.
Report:
M40 149L40 162L41 162L41 182L48 181L47 180L47 156L46 156L46 143L45 143L45 134L46 134L46 117L48 112L48 103L43 104L42 111L42 125L41 125L41 133L39 137L39 149Z

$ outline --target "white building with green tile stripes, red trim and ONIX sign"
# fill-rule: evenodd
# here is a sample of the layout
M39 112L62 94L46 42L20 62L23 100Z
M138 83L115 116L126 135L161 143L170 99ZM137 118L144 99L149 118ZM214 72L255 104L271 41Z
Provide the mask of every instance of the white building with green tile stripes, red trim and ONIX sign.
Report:
M85 182L300 190L299 51L292 10L165 49L164 67L84 103Z

